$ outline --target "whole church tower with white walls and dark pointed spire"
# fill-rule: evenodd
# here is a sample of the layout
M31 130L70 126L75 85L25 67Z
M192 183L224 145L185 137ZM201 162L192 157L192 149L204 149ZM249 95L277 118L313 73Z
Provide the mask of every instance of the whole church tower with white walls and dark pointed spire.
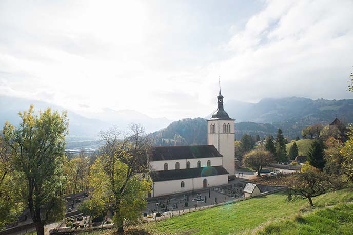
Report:
M223 108L223 96L217 96L217 110L207 120L207 143L214 145L223 155L222 166L229 172L228 177L235 174L234 119L231 119Z

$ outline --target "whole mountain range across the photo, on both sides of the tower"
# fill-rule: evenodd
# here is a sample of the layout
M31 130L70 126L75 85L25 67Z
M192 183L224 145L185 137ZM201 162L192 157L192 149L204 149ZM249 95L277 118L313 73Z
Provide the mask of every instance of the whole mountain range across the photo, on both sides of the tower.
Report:
M65 110L61 106L43 101L28 100L9 96L0 96L0 123L10 121L17 125L18 112L28 110L33 104L35 110L44 110L49 106L53 110ZM303 127L315 123L329 124L337 116L344 123L353 122L353 99L311 100L308 98L288 97L262 99L258 103L230 100L224 104L231 118L236 119L236 139L244 133L251 135L276 135L281 128L288 139L301 136ZM209 116L205 117L206 119ZM97 138L100 130L112 125L125 129L129 123L141 123L146 132L153 132L156 144L185 145L205 144L207 122L205 118L183 119L171 123L167 118L152 118L134 110L112 110L105 108L100 113L78 114L68 110L70 121L70 141L91 140ZM169 126L168 126L169 124ZM159 130L159 131L157 131Z

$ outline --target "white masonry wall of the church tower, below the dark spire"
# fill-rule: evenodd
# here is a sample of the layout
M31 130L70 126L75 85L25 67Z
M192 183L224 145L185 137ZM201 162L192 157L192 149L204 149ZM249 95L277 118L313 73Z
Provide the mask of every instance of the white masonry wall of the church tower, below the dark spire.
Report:
M223 132L223 124L230 124L230 133ZM208 121L207 142L213 144L223 155L223 167L234 176L235 173L235 148L234 148L234 121L233 120L209 120ZM210 125L215 124L216 133L210 133Z

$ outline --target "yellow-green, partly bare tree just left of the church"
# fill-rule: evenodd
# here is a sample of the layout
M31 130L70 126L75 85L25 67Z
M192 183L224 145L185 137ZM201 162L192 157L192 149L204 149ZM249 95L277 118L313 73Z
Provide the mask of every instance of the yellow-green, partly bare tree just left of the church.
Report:
M133 224L141 217L151 190L150 182L142 177L142 172L148 172L150 138L140 125L132 124L130 129L127 134L116 128L101 132L106 145L89 177L92 197L113 211L119 233L124 232L123 224Z

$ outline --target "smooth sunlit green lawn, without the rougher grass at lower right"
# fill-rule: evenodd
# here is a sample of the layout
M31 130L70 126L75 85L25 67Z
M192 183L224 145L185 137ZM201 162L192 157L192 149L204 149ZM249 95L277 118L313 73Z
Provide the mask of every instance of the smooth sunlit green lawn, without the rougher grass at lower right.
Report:
M353 200L353 190L344 189L313 199L317 207L336 205ZM307 200L286 201L281 193L187 213L140 228L150 234L237 234L283 219L291 219L299 211L310 211Z

